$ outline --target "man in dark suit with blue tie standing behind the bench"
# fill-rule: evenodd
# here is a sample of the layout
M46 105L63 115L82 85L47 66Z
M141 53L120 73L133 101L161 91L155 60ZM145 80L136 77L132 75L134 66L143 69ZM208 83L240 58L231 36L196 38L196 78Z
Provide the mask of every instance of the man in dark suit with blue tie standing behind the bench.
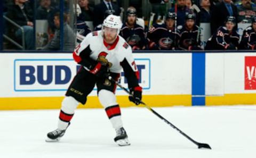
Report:
M231 0L223 0L213 8L211 16L212 34L225 23L227 16L234 16L237 20L237 7L231 3ZM237 29L237 26L235 26L235 29Z

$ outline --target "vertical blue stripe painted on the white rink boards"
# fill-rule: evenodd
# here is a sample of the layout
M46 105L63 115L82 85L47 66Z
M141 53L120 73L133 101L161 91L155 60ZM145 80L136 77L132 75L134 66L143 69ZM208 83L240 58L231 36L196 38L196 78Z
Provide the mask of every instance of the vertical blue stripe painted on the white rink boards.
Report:
M204 95L205 95L205 53L193 53L192 54L192 105L205 105Z

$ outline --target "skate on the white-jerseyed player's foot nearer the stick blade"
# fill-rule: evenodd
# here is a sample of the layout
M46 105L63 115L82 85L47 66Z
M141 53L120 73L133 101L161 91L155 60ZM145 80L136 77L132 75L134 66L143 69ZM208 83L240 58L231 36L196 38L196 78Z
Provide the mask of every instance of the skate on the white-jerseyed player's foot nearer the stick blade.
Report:
M116 129L116 137L114 140L119 146L131 145L123 127Z

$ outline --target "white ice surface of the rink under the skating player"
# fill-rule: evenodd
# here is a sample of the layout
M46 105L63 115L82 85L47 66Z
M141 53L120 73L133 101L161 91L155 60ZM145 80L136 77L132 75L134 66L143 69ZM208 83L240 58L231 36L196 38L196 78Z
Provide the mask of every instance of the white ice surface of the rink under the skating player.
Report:
M76 110L65 136L46 143L59 110L0 111L0 157L227 158L256 157L256 106L153 108L212 150L197 149L146 108L123 108L131 146L114 143L115 131L103 109Z

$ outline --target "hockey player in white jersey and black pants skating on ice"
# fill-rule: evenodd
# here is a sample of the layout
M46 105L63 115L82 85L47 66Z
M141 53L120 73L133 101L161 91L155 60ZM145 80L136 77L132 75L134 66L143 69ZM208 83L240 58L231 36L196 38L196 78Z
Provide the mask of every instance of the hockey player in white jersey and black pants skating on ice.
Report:
M116 81L123 68L128 87L133 96L131 102L140 104L142 88L138 84L139 73L132 56L132 49L119 36L122 27L120 16L109 15L103 21L101 31L88 34L73 52L74 60L82 65L71 82L62 101L58 128L47 134L46 142L55 142L65 134L78 103L85 104L95 84L100 103L116 130L115 142L120 146L130 145L123 128L121 111L116 102L116 85L106 78L108 73Z

